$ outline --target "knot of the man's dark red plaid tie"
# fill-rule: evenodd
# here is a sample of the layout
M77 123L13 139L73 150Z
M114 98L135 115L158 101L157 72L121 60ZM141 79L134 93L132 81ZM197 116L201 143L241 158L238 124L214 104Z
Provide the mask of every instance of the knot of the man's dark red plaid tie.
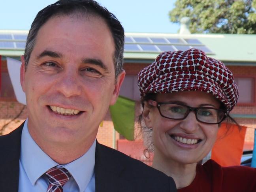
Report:
M54 167L45 172L50 185L63 187L72 177L70 172L65 168Z

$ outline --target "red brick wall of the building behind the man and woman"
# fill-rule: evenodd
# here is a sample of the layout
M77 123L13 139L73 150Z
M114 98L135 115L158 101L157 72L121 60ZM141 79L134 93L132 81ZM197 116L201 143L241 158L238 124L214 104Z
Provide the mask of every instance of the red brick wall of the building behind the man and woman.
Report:
M140 64L140 63L126 63L124 64L124 69L126 70L127 75L137 75L137 73L144 68L145 66L149 65L148 64ZM256 77L256 67L252 66L228 66L228 68L233 72L234 76L247 76L249 75L250 77ZM256 88L255 88L256 90ZM254 94L256 97L256 94ZM256 100L256 99L255 99ZM140 114L140 109L139 109L139 102L136 103L136 116ZM23 109L24 108L24 109ZM15 116L17 116L21 110L23 109L23 112L21 115L13 120ZM237 105L233 113L245 113L245 114L256 114L256 106L255 105ZM27 117L27 112L26 112L26 107L24 105L19 104L18 102L4 102L0 100L0 134L7 134L11 130L17 128ZM13 120L13 121L11 121ZM245 145L247 145L247 149L251 149L252 147L252 142L254 141L254 128L256 128L256 120L255 119L236 119L239 123L242 125L247 125L250 128L247 129L246 137L245 137ZM9 123L11 121L11 123ZM4 126L7 124L6 126ZM3 129L1 129L4 126ZM135 130L135 135L136 138L141 138L139 132L139 125L136 124L136 130ZM97 139L100 143L107 145L109 147L115 147L117 139L119 139L119 134L115 132L115 142L113 142L113 122L111 120L110 113L108 111L103 127L99 127Z

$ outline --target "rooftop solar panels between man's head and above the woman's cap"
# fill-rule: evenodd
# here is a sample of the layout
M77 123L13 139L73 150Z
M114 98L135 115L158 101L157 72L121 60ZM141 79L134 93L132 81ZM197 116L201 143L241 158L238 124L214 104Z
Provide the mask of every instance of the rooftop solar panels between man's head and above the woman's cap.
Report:
M201 41L192 38L183 39L126 36L124 44L124 51L126 52L159 53L162 51L186 51L191 48L201 49L205 53L213 54L213 52L203 45Z

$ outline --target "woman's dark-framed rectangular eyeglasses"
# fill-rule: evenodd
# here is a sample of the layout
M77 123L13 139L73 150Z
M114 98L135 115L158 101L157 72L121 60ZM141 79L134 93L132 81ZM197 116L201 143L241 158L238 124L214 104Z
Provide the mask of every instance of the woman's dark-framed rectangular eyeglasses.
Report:
M149 104L157 107L160 115L168 119L183 120L190 111L194 111L196 120L207 124L219 124L228 115L227 111L214 107L190 107L175 102L156 102L148 100Z

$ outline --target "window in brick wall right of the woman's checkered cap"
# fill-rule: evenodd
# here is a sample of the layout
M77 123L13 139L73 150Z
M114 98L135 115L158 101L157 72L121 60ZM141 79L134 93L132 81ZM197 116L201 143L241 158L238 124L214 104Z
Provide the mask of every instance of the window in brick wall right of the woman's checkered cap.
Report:
M235 78L239 89L238 104L252 104L254 103L254 78L253 77L237 77Z

